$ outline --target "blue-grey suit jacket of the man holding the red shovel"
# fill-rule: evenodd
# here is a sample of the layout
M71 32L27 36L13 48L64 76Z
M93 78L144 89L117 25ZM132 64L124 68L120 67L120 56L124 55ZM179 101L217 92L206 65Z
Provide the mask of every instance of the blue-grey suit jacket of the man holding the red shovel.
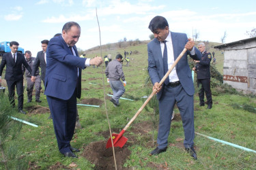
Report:
M188 41L186 34L184 33L173 33L171 32L171 41L173 44L173 55L174 59L177 59L177 56L180 55L182 50ZM160 41L158 39L152 40L149 44L147 44L147 52L148 52L148 71L150 74L150 78L152 83L160 82L164 77L164 66L162 60L162 51L160 47ZM186 91L188 95L193 95L195 92L193 79L191 75L190 67L188 66L188 58L187 55L190 55L194 60L200 60L201 52L197 48L195 48L195 55L191 55L188 51L187 54L184 54L180 61L177 63L176 71L177 77L180 80L180 84ZM157 98L160 99L162 95L162 90L157 93Z

